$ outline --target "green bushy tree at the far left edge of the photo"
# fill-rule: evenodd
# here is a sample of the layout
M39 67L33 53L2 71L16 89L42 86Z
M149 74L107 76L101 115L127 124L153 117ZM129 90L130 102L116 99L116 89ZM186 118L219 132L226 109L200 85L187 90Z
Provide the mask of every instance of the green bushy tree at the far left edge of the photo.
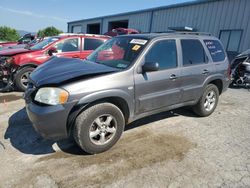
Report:
M17 31L13 28L0 26L0 40L17 41L20 38Z

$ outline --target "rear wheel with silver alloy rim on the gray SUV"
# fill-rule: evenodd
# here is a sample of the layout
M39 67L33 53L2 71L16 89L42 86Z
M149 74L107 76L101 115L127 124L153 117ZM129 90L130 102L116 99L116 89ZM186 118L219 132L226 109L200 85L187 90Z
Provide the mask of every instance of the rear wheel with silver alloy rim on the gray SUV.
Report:
M201 117L209 116L215 110L219 100L219 90L216 85L206 86L202 97L198 103L193 106L193 111Z

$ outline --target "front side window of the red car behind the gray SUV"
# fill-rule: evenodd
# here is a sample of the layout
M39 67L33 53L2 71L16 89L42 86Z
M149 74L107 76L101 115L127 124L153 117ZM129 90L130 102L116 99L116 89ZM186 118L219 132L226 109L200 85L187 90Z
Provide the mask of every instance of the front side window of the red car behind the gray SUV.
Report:
M79 38L70 38L59 41L55 48L58 53L79 51Z

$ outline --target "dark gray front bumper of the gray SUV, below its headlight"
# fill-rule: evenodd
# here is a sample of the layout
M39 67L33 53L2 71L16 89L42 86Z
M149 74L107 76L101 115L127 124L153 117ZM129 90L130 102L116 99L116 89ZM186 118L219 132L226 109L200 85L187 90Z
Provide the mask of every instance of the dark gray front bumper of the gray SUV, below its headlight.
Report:
M63 139L68 137L67 120L76 102L64 105L39 106L26 102L26 111L35 130L46 139Z

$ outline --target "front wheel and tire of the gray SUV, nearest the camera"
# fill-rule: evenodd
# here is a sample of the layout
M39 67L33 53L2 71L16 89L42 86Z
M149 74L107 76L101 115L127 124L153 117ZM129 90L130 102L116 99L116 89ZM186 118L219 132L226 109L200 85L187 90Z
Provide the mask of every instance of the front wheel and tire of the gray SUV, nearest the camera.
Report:
M76 118L74 139L85 152L101 153L119 140L124 126L124 116L117 106L111 103L96 104Z

